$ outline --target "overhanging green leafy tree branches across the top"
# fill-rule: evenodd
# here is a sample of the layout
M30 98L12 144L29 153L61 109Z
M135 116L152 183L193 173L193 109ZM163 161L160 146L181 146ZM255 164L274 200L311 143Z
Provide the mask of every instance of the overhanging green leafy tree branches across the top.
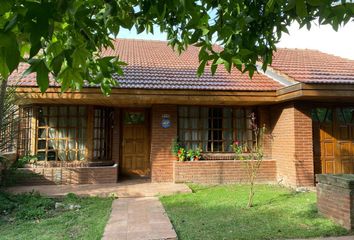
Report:
M252 76L258 60L264 70L272 62L275 44L293 21L310 28L318 20L337 30L354 14L351 0L0 0L0 5L1 76L26 62L26 73L37 73L42 92L52 75L62 91L79 90L86 81L106 94L116 85L112 74L122 74L125 63L101 52L113 48L111 37L121 28L153 33L157 25L179 52L200 47L198 75L207 65L215 73L222 64ZM223 49L214 47L216 42Z

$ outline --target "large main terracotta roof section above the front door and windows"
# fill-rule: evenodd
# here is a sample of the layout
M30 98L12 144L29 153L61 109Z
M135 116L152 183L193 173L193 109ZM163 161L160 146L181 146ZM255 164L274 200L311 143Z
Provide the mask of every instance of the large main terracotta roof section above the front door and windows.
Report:
M255 74L252 80L237 70L229 74L223 66L219 66L214 76L210 66L206 66L204 75L198 78L199 49L193 46L179 55L163 41L119 39L114 45L115 49L107 49L103 55L119 56L128 63L124 76L114 76L119 88L273 91L282 86L264 74ZM21 86L36 86L34 74L18 81L25 68L22 65L10 77L10 84L18 82ZM51 85L57 84L52 81Z

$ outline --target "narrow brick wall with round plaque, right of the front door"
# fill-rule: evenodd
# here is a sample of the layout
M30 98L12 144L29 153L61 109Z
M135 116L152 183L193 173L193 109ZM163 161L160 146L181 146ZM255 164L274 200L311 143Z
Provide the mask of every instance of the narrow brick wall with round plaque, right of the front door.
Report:
M162 128L162 115L168 114L171 120L170 128ZM173 161L171 144L177 137L177 106L156 105L151 109L151 181L172 182Z

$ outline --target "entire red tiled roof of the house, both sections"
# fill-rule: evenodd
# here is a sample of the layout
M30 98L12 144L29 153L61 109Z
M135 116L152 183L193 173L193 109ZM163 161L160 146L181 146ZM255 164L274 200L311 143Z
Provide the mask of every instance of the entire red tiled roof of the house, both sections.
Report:
M231 91L274 91L283 87L270 77L256 73L252 79L234 69L227 73L219 66L212 76L210 66L200 78L196 75L199 49L190 46L178 55L167 42L119 39L115 49L103 52L108 56L119 56L126 61L124 76L114 76L119 88L135 89L180 89L180 90L231 90ZM314 50L278 49L272 68L304 83L350 83L354 84L354 61ZM21 65L10 77L10 84L36 86L34 74L21 78L27 67ZM58 86L51 81L51 86Z

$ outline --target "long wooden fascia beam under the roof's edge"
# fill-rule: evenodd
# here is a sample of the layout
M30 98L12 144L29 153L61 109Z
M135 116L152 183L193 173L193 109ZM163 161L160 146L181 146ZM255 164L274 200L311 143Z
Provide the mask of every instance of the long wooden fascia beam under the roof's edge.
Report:
M98 88L61 93L60 88L52 87L44 94L33 87L18 87L16 91L25 104L86 104L112 107L150 107L156 104L250 106L294 100L354 100L354 85L349 84L297 83L277 91L263 92L112 89L109 97L104 96Z

